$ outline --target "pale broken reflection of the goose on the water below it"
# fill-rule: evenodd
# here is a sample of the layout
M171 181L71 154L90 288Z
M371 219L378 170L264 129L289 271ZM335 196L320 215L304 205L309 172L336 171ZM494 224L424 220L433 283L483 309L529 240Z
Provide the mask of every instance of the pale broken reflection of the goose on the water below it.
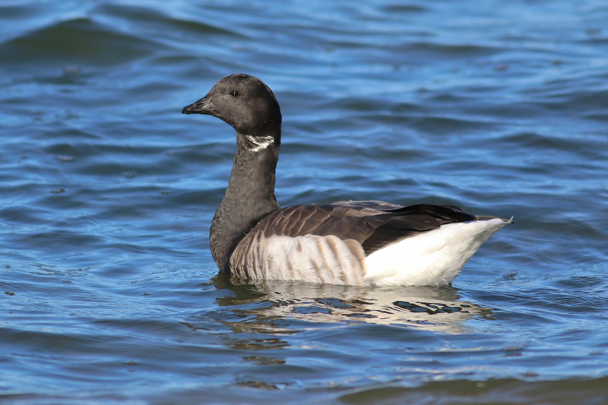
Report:
M461 301L457 290L450 286L365 288L222 276L214 282L217 288L236 294L219 299L218 304L239 307L235 311L244 318L223 323L241 332L244 328L248 332L297 332L301 324L286 324L289 319L297 319L310 323L307 330L325 328L328 323L346 327L368 322L458 334L468 330L465 322L469 319L492 319L493 308ZM275 322L279 319L282 322Z

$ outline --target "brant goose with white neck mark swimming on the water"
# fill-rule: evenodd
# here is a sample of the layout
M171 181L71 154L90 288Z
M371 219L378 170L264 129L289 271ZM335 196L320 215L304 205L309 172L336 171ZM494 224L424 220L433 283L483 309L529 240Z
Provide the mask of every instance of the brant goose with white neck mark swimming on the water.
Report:
M258 78L234 74L182 114L218 117L237 131L226 194L213 217L218 267L246 279L344 285L445 285L511 222L451 205L340 201L280 208L277 99Z

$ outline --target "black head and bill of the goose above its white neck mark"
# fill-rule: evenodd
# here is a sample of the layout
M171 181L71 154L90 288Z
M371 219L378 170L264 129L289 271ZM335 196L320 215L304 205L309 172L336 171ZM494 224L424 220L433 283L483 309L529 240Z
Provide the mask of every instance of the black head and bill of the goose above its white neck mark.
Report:
M266 84L236 73L221 78L201 100L185 106L182 114L206 114L229 123L238 134L281 141L281 110Z

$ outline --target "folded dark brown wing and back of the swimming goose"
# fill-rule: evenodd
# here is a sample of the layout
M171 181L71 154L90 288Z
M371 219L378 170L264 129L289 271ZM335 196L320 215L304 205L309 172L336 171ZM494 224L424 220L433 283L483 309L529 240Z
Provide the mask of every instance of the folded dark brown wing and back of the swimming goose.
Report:
M370 254L403 237L434 230L445 223L474 219L449 205L402 207L383 202L337 202L279 209L261 220L254 231L265 237L335 235L357 240L365 254Z

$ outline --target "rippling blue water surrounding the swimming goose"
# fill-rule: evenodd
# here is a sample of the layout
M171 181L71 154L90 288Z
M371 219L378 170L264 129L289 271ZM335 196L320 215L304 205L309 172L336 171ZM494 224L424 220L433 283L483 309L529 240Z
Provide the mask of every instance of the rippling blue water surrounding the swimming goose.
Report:
M608 5L0 2L0 403L608 403ZM260 77L282 205L514 216L452 287L218 275Z

